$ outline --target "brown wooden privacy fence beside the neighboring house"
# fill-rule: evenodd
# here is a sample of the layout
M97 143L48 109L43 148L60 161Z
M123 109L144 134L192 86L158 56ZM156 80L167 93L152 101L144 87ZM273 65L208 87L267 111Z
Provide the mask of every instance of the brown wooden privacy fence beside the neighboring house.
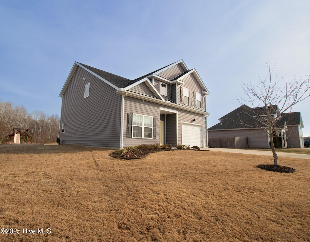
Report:
M247 149L247 137L219 137L208 138L208 145L212 148Z

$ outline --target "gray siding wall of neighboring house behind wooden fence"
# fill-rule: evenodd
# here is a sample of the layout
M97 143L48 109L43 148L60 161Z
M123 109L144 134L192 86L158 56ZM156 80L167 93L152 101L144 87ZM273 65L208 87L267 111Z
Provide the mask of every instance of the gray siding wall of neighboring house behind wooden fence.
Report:
M208 130L208 138L248 137L249 148L268 148L269 139L265 130Z

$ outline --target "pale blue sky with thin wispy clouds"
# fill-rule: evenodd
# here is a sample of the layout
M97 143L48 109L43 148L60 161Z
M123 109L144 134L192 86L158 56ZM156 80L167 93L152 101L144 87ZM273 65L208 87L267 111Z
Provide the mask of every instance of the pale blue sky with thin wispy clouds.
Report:
M310 1L2 1L0 99L60 115L81 62L135 79L183 59L210 91L208 127L240 106L242 83L310 74ZM308 100L297 104L310 135Z

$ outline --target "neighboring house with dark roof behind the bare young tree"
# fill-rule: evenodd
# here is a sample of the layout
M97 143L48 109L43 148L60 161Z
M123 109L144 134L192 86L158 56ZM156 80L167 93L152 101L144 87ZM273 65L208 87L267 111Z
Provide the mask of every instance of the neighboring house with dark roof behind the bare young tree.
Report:
M219 119L219 123L208 129L209 138L247 137L250 148L270 148L269 133L263 128L264 107L250 108L242 105ZM268 107L276 116L278 106ZM300 112L284 113L278 121L277 135L282 147L303 147L303 121Z

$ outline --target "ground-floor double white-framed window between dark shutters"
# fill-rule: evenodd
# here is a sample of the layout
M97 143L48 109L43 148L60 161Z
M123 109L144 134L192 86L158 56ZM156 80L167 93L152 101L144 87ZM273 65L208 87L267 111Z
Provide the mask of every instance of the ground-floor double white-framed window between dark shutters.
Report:
M150 138L153 134L153 117L140 114L132 115L132 137Z

